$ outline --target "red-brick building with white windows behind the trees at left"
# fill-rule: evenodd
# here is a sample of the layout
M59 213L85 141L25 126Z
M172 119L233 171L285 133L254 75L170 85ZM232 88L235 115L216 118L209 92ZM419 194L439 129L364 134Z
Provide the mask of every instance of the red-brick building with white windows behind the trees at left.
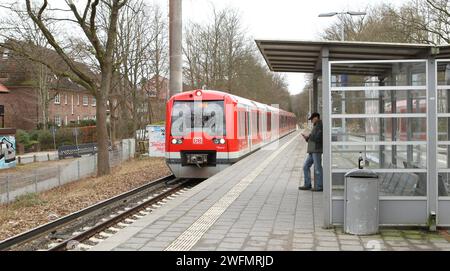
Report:
M0 95L4 125L16 129L36 129L44 118L36 79L32 78L33 73L27 70L23 60L11 57L7 50L0 51L0 56L0 84L8 90ZM84 88L56 76L49 76L47 85L48 123L63 126L96 119L96 100Z

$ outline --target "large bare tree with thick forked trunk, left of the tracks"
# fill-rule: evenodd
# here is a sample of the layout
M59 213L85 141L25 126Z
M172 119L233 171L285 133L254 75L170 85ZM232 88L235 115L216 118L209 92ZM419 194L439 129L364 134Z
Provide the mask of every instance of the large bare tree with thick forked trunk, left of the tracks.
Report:
M98 171L97 175L109 174L108 131L107 131L107 98L111 89L115 61L113 59L114 47L117 38L117 21L121 9L127 0L87 0L83 6L75 4L72 0L66 0L66 9L58 9L61 16L54 16L50 12L47 0L41 5L35 6L30 0L26 0L25 11L33 23L42 32L51 48L56 52L57 59L39 59L32 54L27 54L31 60L45 65L57 76L68 77L72 81L89 90L97 100L97 137L98 137ZM98 13L106 12L108 24L105 28L99 26ZM55 24L71 27L71 30L79 31L82 42L70 39L67 36L58 35L50 26ZM9 39L8 42L15 42ZM75 44L79 45L74 47ZM92 71L89 66L77 62L83 56L90 53L95 60L98 71ZM80 54L81 51L85 55ZM55 64L58 63L58 64Z

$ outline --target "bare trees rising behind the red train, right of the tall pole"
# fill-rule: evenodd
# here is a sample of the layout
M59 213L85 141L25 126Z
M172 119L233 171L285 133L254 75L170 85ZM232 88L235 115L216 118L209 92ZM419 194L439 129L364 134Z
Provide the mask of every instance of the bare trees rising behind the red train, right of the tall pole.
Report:
M206 25L191 23L185 34L185 82L191 88L227 91L268 104L291 106L285 79L262 64L234 9L213 10Z

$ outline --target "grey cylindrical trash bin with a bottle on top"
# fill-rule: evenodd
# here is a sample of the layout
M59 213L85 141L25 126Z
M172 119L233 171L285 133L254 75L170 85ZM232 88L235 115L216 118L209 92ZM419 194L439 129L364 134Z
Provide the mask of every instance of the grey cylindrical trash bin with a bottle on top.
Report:
M378 233L378 175L355 169L345 174L344 232L355 235Z

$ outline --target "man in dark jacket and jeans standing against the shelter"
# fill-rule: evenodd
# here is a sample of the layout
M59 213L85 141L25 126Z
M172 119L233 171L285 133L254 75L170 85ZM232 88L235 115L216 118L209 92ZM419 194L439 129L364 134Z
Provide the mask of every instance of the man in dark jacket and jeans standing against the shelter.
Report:
M303 138L308 142L308 155L306 156L305 163L303 165L303 174L305 177L304 186L299 187L300 190L311 190L315 192L323 191L322 182L322 153L323 153L323 125L320 120L319 113L311 114L309 120L313 123L314 127L311 134L304 135ZM314 164L314 173L316 174L316 187L311 188L311 172L310 168Z

